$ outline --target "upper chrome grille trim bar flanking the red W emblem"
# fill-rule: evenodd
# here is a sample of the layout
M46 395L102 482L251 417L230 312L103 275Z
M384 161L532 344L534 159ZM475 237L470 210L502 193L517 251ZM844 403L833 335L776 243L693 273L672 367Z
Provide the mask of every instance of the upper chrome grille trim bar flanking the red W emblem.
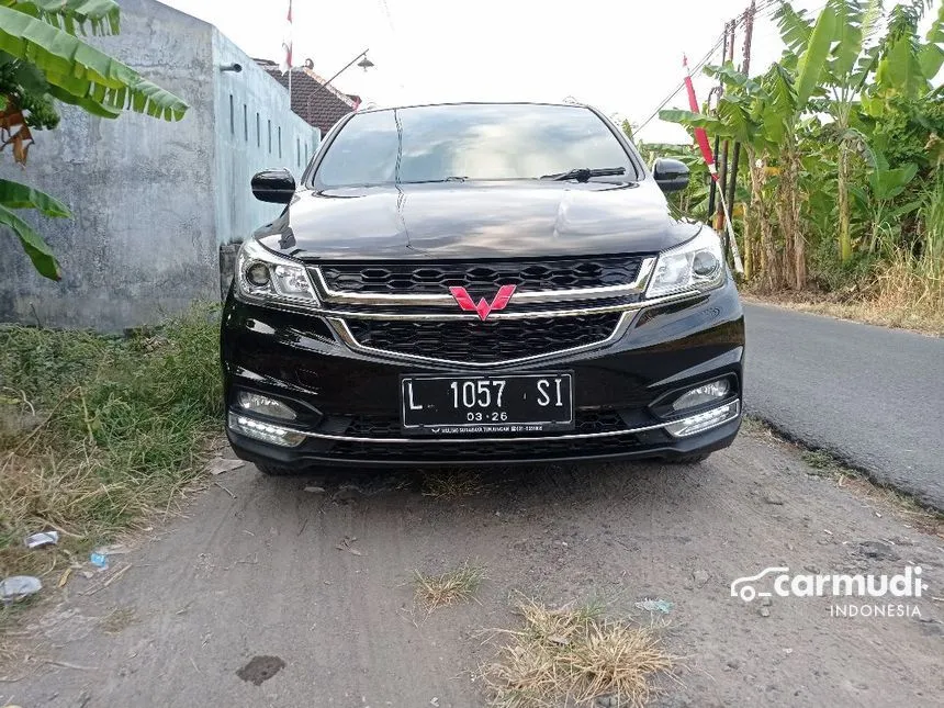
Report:
M655 268L655 257L644 258L639 267L639 273L631 283L623 285L607 285L602 288L575 288L571 290L543 290L537 292L517 292L513 297L514 303L555 303L555 302L581 302L592 300L604 300L607 297L629 297L641 295L649 286L649 280ZM317 266L308 266L318 300L326 303L347 305L394 305L394 306L454 306L456 300L449 293L441 295L431 294L405 294L383 295L379 293L358 293L331 290L325 280L322 269ZM497 315L498 313L495 313Z

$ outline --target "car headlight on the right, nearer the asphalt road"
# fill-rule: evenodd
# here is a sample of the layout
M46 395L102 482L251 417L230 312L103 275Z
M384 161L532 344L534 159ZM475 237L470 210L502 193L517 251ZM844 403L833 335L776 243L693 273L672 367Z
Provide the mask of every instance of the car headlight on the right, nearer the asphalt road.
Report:
M724 282L724 272L721 239L706 226L692 240L659 255L645 296L710 290Z

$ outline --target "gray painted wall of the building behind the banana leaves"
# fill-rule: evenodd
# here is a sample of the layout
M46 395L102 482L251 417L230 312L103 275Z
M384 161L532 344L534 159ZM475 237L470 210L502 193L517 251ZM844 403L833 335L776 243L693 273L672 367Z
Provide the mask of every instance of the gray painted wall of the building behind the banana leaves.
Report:
M263 131L267 115L273 131L282 125L292 147L296 137L306 139L311 154L318 143L317 131L289 111L278 81L190 15L155 0L123 0L122 34L91 41L182 97L190 110L167 123L134 113L108 121L61 106L59 127L35 133L25 170L9 150L0 157L0 176L58 196L74 213L71 220L27 216L59 258L58 283L37 276L12 234L0 232L0 322L115 331L216 299L218 245L279 212L251 198L251 175L271 165L301 172L284 144L282 160L276 145L268 155L267 139L257 146L256 112ZM233 61L243 65L240 74L220 71Z

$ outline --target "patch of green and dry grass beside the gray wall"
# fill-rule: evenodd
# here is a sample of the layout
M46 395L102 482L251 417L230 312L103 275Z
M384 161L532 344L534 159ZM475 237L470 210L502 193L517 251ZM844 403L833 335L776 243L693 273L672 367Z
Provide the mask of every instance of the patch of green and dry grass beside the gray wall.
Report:
M103 337L0 326L0 575L40 575L164 509L220 428L218 314ZM58 529L59 544L23 538Z

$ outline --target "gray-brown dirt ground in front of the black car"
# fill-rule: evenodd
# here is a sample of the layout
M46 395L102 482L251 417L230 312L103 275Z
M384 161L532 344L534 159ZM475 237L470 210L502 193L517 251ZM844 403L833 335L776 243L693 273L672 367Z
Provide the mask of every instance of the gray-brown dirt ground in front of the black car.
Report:
M944 539L810 472L756 430L700 467L486 472L487 488L450 499L409 474L271 480L247 465L32 610L14 638L30 660L0 668L0 706L482 706L472 672L494 647L480 630L516 626L514 592L600 599L647 625L637 602L673 603L660 631L683 659L658 706L940 705ZM467 559L488 576L479 602L417 611L414 570ZM920 618L730 596L767 566L908 563L929 585L910 600ZM273 659L245 670L254 656Z

